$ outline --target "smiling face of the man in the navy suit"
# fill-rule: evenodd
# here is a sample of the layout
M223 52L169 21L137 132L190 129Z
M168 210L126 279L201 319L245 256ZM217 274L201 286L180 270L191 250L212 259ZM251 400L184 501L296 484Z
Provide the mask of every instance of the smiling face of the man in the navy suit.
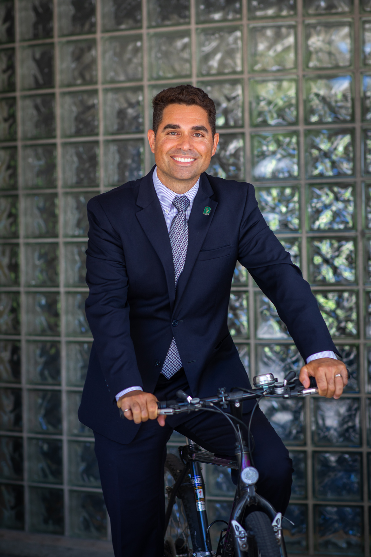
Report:
M157 134L148 139L157 168L172 180L192 180L209 167L219 134L212 138L207 112L201 106L166 106Z

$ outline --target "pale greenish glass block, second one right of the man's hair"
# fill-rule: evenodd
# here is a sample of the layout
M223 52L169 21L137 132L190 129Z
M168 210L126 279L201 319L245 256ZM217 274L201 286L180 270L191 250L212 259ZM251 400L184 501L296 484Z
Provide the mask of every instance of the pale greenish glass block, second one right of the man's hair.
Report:
M295 79L251 79L250 118L253 126L296 124Z

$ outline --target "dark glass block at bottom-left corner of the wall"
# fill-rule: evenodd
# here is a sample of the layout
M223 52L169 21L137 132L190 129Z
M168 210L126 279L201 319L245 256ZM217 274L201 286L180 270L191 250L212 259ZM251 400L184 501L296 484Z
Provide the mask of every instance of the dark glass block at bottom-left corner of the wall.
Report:
M11 530L24 529L24 487L0 485L0 526Z

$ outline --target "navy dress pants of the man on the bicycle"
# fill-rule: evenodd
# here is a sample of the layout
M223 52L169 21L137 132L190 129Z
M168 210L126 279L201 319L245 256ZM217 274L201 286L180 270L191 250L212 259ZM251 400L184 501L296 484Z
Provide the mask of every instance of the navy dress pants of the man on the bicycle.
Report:
M174 399L178 389L190 393L182 370L170 380L160 377L155 390L157 399ZM243 419L249 423L250 414L245 414ZM174 429L207 451L234 456L235 436L229 422L211 412L167 417L165 427L159 426L157 420L149 420L142 423L128 444L94 433L115 557L164 555L164 463L166 443ZM254 412L251 431L255 442L254 463L259 471L257 491L276 511L284 513L290 499L293 472L289 453L260 408Z

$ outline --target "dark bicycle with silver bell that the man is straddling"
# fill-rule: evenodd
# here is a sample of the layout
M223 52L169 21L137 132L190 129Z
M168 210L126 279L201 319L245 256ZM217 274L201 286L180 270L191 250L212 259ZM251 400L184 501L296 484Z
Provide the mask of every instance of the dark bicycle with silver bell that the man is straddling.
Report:
M255 491L259 472L253 466L250 426L255 408L263 397L294 398L318 393L314 378L310 378L310 387L304 388L295 375L295 372L289 372L280 383L271 373L257 375L253 380L254 389L236 388L227 393L225 388L219 388L215 397L201 399L192 398L179 390L176 395L180 402L165 400L157 403L158 413L168 416L201 410L222 413L233 426L236 437L235 459L216 457L201 451L195 443L179 447L180 459L167 455L165 557L287 557L282 532L283 517ZM251 412L249 426L246 426L241 421L242 403L251 399L257 399L257 402ZM228 405L230 413L225 412ZM241 427L248 430L248 447ZM239 471L229 522L215 520L209 524L207 520L205 483L200 463ZM246 513L251 505L261 510ZM225 522L226 527L220 532L216 551L212 551L210 528L216 522Z

